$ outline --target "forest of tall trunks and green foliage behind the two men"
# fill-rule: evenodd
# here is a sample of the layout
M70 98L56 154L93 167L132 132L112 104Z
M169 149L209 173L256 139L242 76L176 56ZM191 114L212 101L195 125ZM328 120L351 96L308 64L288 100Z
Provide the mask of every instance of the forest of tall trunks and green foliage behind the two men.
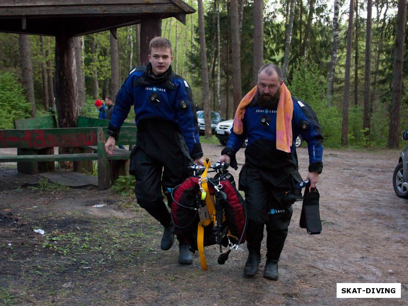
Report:
M163 19L162 36L173 43L173 70L192 85L201 108L232 118L259 66L271 62L283 67L292 95L316 111L326 146L399 146L408 129L405 0L185 2L197 12L186 25ZM95 99L119 90L112 75L121 83L138 65L139 31L139 25L117 29L117 48L109 31L78 38L82 115L97 117ZM54 66L54 37L0 33L1 129L55 107Z

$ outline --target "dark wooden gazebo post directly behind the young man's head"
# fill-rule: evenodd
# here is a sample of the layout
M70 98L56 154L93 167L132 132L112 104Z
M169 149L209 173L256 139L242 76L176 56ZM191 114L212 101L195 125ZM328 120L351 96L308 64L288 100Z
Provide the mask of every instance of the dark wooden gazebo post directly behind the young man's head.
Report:
M140 23L140 65L146 66L149 62L149 42L152 38L162 35L162 19L147 18Z

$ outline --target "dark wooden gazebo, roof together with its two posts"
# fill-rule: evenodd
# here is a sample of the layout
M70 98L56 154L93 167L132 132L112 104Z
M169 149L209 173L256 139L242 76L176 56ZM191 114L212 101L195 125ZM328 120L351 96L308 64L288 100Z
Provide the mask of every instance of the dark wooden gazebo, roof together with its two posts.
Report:
M139 23L144 65L149 41L161 35L162 19L175 17L185 24L194 12L180 0L2 0L0 32L56 37L57 110L60 126L69 127L77 119L68 111L77 98L73 37Z

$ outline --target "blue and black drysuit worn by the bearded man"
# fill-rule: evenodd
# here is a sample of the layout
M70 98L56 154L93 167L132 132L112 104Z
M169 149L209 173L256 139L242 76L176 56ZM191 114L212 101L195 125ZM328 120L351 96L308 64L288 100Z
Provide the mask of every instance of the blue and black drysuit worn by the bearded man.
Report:
M245 192L248 208L247 247L260 256L264 224L267 230L267 260L278 261L292 217L292 202L285 193L301 182L298 172L295 139L300 134L308 142L309 171L323 168L323 137L316 113L302 101L293 99L291 152L276 149L276 108L263 109L256 98L246 107L243 133L231 133L221 154L231 157L237 167L235 154L248 138L245 165L240 171L239 189Z

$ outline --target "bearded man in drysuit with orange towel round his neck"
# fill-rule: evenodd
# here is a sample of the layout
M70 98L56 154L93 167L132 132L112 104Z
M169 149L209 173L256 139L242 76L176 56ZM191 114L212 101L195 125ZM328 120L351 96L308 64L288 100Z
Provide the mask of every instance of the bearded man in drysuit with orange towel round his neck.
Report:
M248 138L245 164L239 174L239 190L245 192L248 208L246 276L258 272L266 226L264 277L274 281L278 278L277 263L288 235L294 202L285 194L302 181L295 146L298 134L308 142L307 179L313 188L323 169L319 120L309 105L291 95L282 81L281 68L266 64L258 72L257 86L237 108L231 135L219 159L237 168L235 154Z

